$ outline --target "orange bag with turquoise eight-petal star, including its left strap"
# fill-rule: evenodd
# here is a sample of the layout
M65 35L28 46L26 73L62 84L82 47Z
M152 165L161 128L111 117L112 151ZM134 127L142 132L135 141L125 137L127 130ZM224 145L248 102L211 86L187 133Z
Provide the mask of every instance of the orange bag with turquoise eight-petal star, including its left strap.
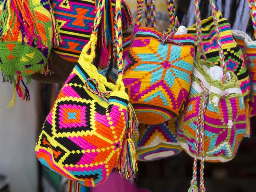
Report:
M195 39L192 35L167 35L154 28L140 27L143 2L137 1L136 26L124 58L124 85L138 120L160 124L184 109Z

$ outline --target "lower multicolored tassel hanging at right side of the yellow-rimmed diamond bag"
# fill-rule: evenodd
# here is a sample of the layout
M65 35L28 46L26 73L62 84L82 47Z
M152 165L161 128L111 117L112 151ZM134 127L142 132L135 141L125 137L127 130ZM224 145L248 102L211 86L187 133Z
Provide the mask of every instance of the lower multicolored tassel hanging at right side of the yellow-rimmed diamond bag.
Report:
M125 132L121 156L117 165L118 172L120 175L133 182L134 178L136 177L136 173L138 172L137 163L138 162L136 159L134 143L131 139L131 133Z

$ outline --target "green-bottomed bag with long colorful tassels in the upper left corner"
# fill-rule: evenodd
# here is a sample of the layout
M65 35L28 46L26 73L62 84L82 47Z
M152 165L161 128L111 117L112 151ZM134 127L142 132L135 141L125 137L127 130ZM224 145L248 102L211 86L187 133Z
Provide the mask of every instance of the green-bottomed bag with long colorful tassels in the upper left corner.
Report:
M23 81L30 75L41 72L51 74L48 62L50 50L58 45L58 35L51 4L48 0L3 0L0 1L0 69L3 82L14 86L21 100L29 100L29 91ZM16 77L15 77L16 76Z

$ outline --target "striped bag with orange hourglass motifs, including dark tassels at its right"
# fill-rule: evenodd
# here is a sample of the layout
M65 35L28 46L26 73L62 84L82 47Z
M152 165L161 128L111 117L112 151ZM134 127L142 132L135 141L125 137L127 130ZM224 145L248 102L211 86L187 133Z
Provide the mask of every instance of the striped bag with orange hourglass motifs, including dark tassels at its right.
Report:
M60 46L54 51L68 61L77 62L84 45L90 40L93 21L96 15L97 1L92 0L53 0L54 15L57 30L60 33ZM100 39L96 45L97 54L103 55L101 67L106 68L106 58L111 53L114 38L115 1L107 0L102 12L102 22L99 27ZM132 25L132 16L127 4L122 2L123 29ZM104 62L104 63L103 63Z

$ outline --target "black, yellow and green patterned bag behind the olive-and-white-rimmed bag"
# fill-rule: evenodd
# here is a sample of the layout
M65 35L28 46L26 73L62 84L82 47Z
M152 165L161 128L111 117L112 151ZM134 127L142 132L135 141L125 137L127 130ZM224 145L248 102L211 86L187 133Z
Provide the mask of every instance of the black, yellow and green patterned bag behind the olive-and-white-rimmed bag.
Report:
M250 93L251 83L243 52L232 36L228 20L222 18L221 12L217 12L217 19L220 26L220 41L227 69L233 71L237 76L238 84L240 85L244 98L246 98ZM196 36L196 24L188 28L188 33ZM214 31L214 21L212 16L202 20L202 36L207 60L215 65L220 65L217 35Z

